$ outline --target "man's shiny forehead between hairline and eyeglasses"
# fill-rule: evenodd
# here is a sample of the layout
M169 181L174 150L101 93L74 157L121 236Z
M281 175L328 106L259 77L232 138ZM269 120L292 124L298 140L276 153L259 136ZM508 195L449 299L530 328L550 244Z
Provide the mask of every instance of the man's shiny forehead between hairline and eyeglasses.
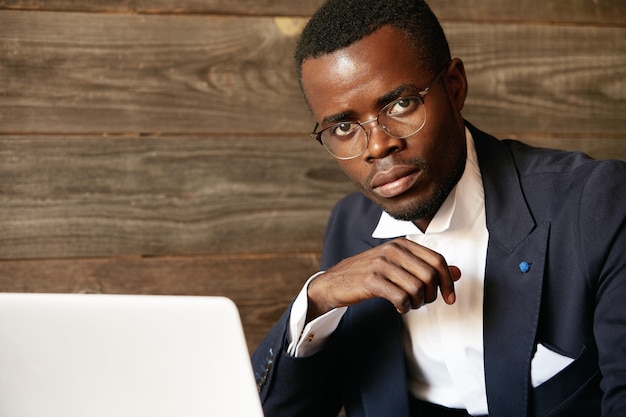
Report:
M432 74L406 35L385 26L352 45L302 64L302 86L315 118L379 110L379 98L402 85L425 87Z

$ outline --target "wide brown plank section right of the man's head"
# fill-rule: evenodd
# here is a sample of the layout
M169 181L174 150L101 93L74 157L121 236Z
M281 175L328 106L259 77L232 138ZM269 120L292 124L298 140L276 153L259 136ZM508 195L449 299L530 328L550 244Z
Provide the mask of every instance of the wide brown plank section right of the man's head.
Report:
M469 120L498 135L626 138L626 29L461 23L446 31L466 63Z

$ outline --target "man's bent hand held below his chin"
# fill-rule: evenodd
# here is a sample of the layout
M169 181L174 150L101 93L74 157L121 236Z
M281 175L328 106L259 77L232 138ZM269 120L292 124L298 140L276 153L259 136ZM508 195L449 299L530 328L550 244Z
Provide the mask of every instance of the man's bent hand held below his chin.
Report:
M344 259L315 278L308 288L307 322L336 307L369 298L389 300L407 313L437 299L456 301L454 282L461 271L443 256L410 240L399 238Z

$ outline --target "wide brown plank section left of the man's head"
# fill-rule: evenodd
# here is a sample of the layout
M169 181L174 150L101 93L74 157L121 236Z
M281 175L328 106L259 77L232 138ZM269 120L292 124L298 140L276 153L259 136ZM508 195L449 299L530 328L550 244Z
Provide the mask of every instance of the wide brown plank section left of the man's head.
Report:
M2 132L313 126L276 19L4 11L0 27Z

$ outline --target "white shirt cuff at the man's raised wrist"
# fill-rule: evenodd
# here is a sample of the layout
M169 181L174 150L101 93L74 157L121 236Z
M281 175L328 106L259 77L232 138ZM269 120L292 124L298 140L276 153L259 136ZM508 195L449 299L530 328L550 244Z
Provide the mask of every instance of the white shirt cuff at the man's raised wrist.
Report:
M337 329L341 318L346 312L347 307L332 309L305 326L309 305L307 297L309 284L323 273L324 271L318 272L307 280L291 306L287 334L289 342L287 353L291 356L301 358L313 355L321 350L324 342Z

